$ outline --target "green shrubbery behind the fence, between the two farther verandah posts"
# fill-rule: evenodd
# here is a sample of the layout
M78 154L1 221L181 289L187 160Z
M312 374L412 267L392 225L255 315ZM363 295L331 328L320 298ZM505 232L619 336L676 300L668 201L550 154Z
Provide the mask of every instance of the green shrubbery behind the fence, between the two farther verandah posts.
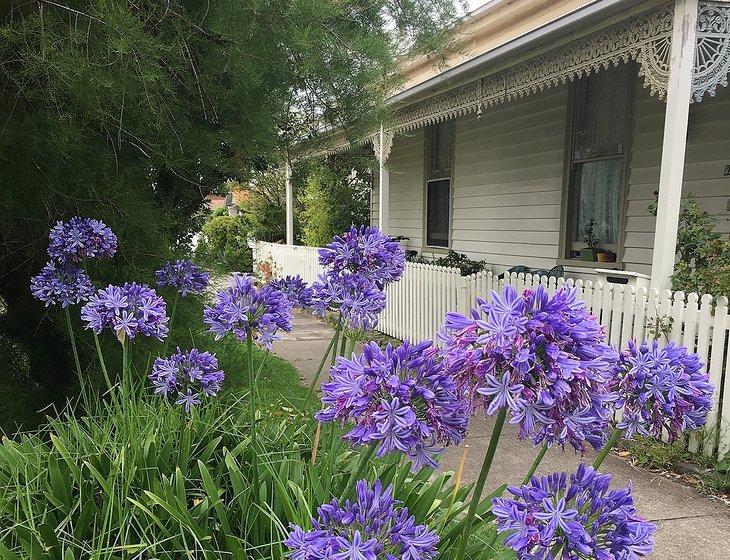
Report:
M340 155L311 165L301 197L302 241L324 247L353 224L370 223L372 159Z

